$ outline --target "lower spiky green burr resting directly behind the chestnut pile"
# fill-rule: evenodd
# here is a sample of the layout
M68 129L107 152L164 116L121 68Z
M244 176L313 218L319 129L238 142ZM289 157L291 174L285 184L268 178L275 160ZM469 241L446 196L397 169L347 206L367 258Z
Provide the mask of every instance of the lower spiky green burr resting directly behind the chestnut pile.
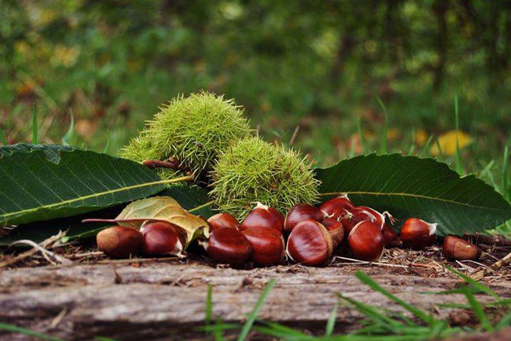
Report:
M243 219L260 201L285 214L297 203L314 203L319 181L307 157L259 138L246 138L218 157L210 194L223 212Z

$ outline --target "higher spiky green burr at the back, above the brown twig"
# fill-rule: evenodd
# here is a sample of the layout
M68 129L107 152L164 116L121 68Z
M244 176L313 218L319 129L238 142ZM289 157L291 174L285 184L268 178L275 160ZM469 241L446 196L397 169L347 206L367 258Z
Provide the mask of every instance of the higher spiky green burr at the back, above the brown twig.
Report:
M163 104L121 156L142 162L175 157L196 177L211 171L221 150L252 130L234 100L208 92L178 96Z

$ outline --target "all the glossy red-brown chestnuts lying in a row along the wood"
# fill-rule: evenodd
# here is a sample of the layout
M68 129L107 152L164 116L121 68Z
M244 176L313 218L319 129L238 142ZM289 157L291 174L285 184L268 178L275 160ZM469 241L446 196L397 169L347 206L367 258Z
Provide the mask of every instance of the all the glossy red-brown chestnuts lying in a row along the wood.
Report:
M219 213L207 219L210 236L200 242L208 256L219 264L239 267L281 264L287 258L307 266L327 264L337 248L347 248L352 257L378 261L383 249L400 246L420 250L436 240L436 224L407 219L398 235L394 219L365 206L355 206L346 195L331 198L315 207L298 204L287 215L257 203L241 222ZM181 255L185 236L179 226L153 221L141 229L112 226L97 235L98 247L110 258L130 255ZM447 236L443 245L449 260L475 260L481 255L472 243Z

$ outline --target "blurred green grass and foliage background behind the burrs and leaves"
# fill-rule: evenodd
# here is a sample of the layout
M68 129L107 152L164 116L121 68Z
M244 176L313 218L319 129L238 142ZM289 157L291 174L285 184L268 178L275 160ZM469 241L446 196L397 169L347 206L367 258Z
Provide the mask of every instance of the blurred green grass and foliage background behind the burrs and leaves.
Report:
M69 143L115 154L158 104L206 89L235 98L269 140L299 127L293 145L319 165L381 151L386 119L389 152L453 162L457 95L463 172L509 178L509 1L0 4L9 143L31 140L35 103L41 142L61 143L73 116Z

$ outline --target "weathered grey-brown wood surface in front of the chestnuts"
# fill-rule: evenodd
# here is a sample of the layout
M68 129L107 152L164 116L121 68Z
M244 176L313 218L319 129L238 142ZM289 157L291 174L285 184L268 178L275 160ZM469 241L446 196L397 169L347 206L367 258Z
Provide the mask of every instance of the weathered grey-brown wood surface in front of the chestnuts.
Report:
M337 293L366 304L403 311L382 294L363 285L354 266L267 269L215 268L196 262L113 263L18 268L0 272L0 321L66 340L107 336L117 340L211 339L197 330L204 326L208 285L213 286L213 317L224 322L245 321L262 289L276 284L264 303L260 319L321 333L338 302ZM466 303L461 295L432 295L426 291L455 288L455 278L425 278L376 266L359 269L399 298L440 317L453 310L447 302ZM503 297L511 284L490 285ZM478 297L482 302L486 297ZM340 305L336 333L360 327L361 315ZM456 314L459 319L459 314ZM467 323L473 316L467 315ZM459 321L457 321L459 322ZM0 332L0 340L32 339Z

